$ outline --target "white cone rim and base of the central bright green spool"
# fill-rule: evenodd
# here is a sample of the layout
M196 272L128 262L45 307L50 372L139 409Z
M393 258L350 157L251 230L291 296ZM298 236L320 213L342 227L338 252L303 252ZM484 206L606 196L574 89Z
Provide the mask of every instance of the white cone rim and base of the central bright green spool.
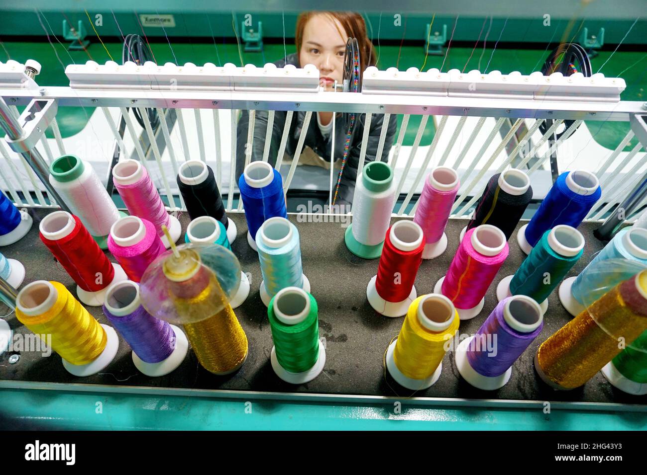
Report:
M305 290L298 287L286 287L276 293L272 308L276 318L287 324L296 325L306 319L310 313L310 297ZM323 370L325 364L325 348L319 340L319 356L313 367L300 373L292 373L283 368L276 357L276 346L272 345L270 363L274 373L286 383L292 385L303 385L312 381Z

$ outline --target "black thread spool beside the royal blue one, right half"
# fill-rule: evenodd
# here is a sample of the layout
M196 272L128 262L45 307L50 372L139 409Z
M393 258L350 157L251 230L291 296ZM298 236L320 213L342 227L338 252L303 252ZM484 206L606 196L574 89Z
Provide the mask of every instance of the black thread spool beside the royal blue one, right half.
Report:
M493 175L476 202L474 216L461 231L461 240L467 229L481 224L498 227L510 240L531 200L530 178L523 171L511 168Z

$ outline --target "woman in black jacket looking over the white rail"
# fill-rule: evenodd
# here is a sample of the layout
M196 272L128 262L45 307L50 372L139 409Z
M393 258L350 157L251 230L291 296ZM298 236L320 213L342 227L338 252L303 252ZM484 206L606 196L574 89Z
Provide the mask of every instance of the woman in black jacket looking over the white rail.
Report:
M366 24L360 14L353 12L303 12L296 22L295 40L297 52L276 61L274 64L280 68L287 64L295 65L298 68L306 64L313 64L319 70L320 85L325 87L327 91L333 91L334 81L337 81L338 85L342 84L344 53L346 41L349 37L355 37L360 48L360 72L364 72L368 66L375 66L375 48L367 37ZM281 136L283 136L286 114L287 112L285 111L276 111L274 115L269 154L269 162L272 165L276 164L276 154L281 143ZM292 123L285 146L285 154L288 159L294 156L304 118L305 112L303 111L295 111L292 116ZM355 126L351 135L351 146L344 172L342 173L342 181L335 201L336 205L349 205L353 201L365 120L366 114L356 115ZM384 114L373 114L371 118L371 129L366 147L366 162L376 159L375 155L380 141L383 120ZM333 187L337 182L347 136L347 131L344 130L342 114L336 114L334 121L334 158L336 162ZM245 167L245 145L247 143L248 126L248 112L243 111L237 129L236 182ZM388 160L396 127L397 122L395 120L389 121L384 149L382 156L379 158L382 162ZM333 112L313 113L305 136L300 164L319 165L330 169L332 129ZM266 131L267 111L256 111L252 162L263 158ZM281 163L285 164L286 162L284 160ZM328 182L329 179L326 179L325 183L328 184ZM347 211L344 208L342 210Z

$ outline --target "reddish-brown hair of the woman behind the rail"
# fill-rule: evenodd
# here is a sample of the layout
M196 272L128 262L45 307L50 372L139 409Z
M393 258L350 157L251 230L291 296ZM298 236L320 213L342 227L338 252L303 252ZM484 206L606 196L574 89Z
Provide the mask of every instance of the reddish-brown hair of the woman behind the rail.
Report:
M356 12L302 12L296 19L296 32L294 34L297 54L301 51L305 25L308 23L309 19L316 15L325 15L330 17L333 20L334 25L337 27L338 25L334 22L334 19L338 20L344 28L346 36L357 39L357 44L360 47L360 71L362 73L367 67L375 66L377 60L375 56L375 47L366 34L366 23L364 22L364 18ZM343 36L341 31L339 33Z

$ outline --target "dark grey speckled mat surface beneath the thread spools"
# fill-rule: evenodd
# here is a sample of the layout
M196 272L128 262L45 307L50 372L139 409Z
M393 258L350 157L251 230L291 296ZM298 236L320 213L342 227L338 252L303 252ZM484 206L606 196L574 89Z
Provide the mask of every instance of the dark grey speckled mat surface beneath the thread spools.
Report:
M76 286L65 270L54 261L54 257L38 237L38 225L41 218L50 211L29 209L34 216L34 226L26 237L16 244L6 246L1 251L8 258L23 262L27 269L25 285L38 279L58 280L76 295ZM42 357L38 352L20 352L20 359L15 364L9 363L9 357L16 352L5 352L0 355L0 386L19 386L21 383L63 383L74 384L74 390L102 390L99 385L119 386L120 391L146 388L155 390L200 389L225 390L232 394L237 391L325 394L329 396L387 396L437 397L450 399L511 400L511 401L551 401L571 403L622 403L635 405L632 410L647 410L647 396L631 396L611 386L598 372L582 388L569 392L555 392L545 386L534 372L532 359L539 344L553 334L571 315L562 308L556 291L549 297L549 310L545 315L542 333L521 355L513 366L512 377L503 388L485 392L472 388L459 376L454 354L450 352L443 359L442 375L431 388L412 394L389 376L384 377L382 359L391 339L399 333L402 317L389 318L375 313L366 300L366 285L377 273L378 260L364 260L351 254L344 245L344 231L348 222L340 222L340 216L333 220L326 216L323 222L313 222L313 216L289 215L290 220L299 229L303 271L310 279L312 293L319 307L320 337L325 338L326 363L314 381L306 385L293 386L281 381L270 366L272 337L267 309L261 302L258 293L261 283L261 271L258 255L247 244L247 224L242 213L228 213L236 222L238 235L232 249L239 258L243 271L250 273L251 290L245 303L237 308L236 315L247 333L249 354L247 361L235 374L219 377L202 368L190 351L182 365L171 374L151 378L140 374L131 359L131 350L120 338L120 346L115 360L100 374L90 377L74 377L63 369L60 356L52 354ZM346 219L348 216L343 216ZM186 231L189 221L187 213L181 213L182 231ZM305 222L305 220L308 222ZM419 269L415 286L418 295L433 291L433 285L449 268L452 257L459 244L459 233L468 220L451 219L446 234L448 248L445 253L433 260L424 260ZM523 224L523 222L521 223ZM593 254L602 249L602 242L593 237L593 229L598 224L584 223L579 229L586 239L584 256L569 275L576 275L591 260ZM479 326L496 305L496 283L506 275L513 274L520 266L525 255L516 243L516 232L510 238L510 255L499 271L495 282L490 286L485 298L485 308L479 316L461 322L459 333L474 335ZM184 233L182 233L183 241ZM115 259L109 255L109 259ZM89 307L89 311L102 323L107 323L100 307ZM6 308L3 314L6 313ZM7 319L14 334L30 332L12 313ZM34 386L29 384L29 386ZM86 386L85 388L83 386ZM135 387L137 386L137 389ZM130 388L130 389L129 389ZM105 391L113 390L105 387ZM214 396L218 394L214 393ZM248 396L246 396L248 397ZM275 396L280 397L280 396ZM474 405L474 401L455 401L457 405ZM505 402L502 401L503 404ZM433 405L433 401L429 404ZM486 403L487 404L487 403ZM602 406L584 405L582 408L600 408Z

